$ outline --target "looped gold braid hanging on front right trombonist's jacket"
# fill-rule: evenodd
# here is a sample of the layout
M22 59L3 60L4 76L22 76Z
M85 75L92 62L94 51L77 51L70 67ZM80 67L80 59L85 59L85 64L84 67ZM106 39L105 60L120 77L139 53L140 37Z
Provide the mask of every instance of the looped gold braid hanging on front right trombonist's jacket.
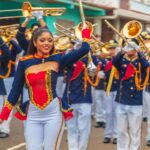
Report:
M141 84L142 82L141 64L140 63L138 64L138 70L135 71L135 84L138 90L143 90L146 87L149 80L149 72L150 72L149 68L146 68L146 77L143 84Z

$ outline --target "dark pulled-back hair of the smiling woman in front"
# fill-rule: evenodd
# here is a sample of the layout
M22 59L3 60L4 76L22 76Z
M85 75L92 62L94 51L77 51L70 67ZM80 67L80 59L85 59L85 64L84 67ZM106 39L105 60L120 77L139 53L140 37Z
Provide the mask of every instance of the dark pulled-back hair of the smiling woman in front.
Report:
M28 47L28 52L27 54L35 54L37 52L37 48L34 46L34 41L37 40L37 38L43 33L43 32L49 32L50 35L53 38L53 35L51 33L51 31L47 28L47 27L40 27L38 29L36 29L33 33L32 33L32 38L30 40L30 44ZM54 52L54 46L52 47L52 49L50 50L50 54L52 54Z

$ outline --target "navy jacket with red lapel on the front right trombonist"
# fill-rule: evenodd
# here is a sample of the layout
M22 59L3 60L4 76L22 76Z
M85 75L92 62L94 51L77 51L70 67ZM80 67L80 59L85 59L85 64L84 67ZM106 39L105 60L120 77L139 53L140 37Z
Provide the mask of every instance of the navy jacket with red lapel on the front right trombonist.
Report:
M137 57L130 60L119 52L113 59L113 65L119 71L116 101L125 105L142 105L143 89L138 89L135 78L138 70L141 73L141 80L146 78L146 68L149 67L149 63L144 55L138 52Z

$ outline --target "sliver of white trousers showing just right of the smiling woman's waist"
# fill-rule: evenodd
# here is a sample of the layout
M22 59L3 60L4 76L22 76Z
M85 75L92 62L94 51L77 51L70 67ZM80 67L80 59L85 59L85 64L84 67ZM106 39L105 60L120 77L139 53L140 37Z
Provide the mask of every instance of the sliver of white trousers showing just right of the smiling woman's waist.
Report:
M64 90L65 90L65 83L64 83L64 77L63 76L59 76L57 78L57 85L56 85L56 92L58 97L62 98L63 94L64 94Z

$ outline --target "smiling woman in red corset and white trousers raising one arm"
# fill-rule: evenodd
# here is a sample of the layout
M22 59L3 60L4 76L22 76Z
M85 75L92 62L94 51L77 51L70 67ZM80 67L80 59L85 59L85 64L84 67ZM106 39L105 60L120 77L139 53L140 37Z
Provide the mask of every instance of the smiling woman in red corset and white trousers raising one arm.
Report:
M88 29L82 31L89 38ZM54 40L48 28L34 31L29 46L29 55L20 59L8 100L0 114L0 122L7 120L24 86L28 87L30 101L27 115L16 116L26 119L25 134L28 150L59 150L63 133L62 110L69 109L57 98L58 71L72 65L89 52L89 44L82 43L79 50L67 55L54 53ZM68 116L67 116L68 117ZM70 116L69 116L70 117Z

